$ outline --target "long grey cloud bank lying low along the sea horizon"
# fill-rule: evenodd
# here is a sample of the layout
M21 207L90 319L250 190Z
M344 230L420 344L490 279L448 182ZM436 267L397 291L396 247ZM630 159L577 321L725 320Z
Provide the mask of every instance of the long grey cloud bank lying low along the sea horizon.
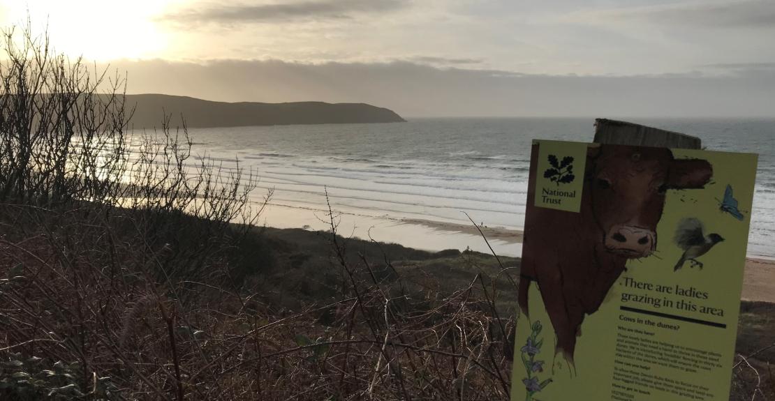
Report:
M138 60L115 62L111 68L128 71L128 93L215 101L364 102L408 117L775 117L775 69L622 77L279 60Z

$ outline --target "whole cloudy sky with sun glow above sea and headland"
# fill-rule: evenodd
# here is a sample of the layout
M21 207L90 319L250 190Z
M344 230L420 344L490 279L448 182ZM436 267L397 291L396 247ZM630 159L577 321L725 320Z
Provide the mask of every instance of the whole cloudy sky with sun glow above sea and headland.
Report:
M128 93L412 116L775 117L775 0L0 2Z

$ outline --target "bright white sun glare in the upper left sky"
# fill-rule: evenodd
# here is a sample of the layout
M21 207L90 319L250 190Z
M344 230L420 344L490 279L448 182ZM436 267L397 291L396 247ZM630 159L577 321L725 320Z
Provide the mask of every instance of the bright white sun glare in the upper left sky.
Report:
M104 62L161 57L167 33L157 23L170 1L39 0L0 5L4 28L25 23L33 33L47 29L58 53Z

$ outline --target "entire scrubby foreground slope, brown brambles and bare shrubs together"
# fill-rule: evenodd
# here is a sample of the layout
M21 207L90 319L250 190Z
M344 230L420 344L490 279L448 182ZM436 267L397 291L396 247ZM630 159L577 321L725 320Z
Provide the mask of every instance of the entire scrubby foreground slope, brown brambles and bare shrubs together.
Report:
M169 120L128 135L122 81L45 37L5 47L0 399L508 399L517 260L346 239L331 211L256 228L250 172L192 164ZM739 399L773 395L766 352Z

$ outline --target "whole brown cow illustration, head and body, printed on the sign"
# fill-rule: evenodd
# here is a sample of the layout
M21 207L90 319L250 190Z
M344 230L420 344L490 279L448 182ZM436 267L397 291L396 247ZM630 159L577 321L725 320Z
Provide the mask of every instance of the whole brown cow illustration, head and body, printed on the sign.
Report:
M534 145L529 200L535 199L537 160ZM529 286L538 283L556 351L568 362L584 316L598 310L627 259L654 252L667 190L702 188L712 175L708 161L675 159L670 149L592 145L579 213L528 202L519 307L526 316Z

